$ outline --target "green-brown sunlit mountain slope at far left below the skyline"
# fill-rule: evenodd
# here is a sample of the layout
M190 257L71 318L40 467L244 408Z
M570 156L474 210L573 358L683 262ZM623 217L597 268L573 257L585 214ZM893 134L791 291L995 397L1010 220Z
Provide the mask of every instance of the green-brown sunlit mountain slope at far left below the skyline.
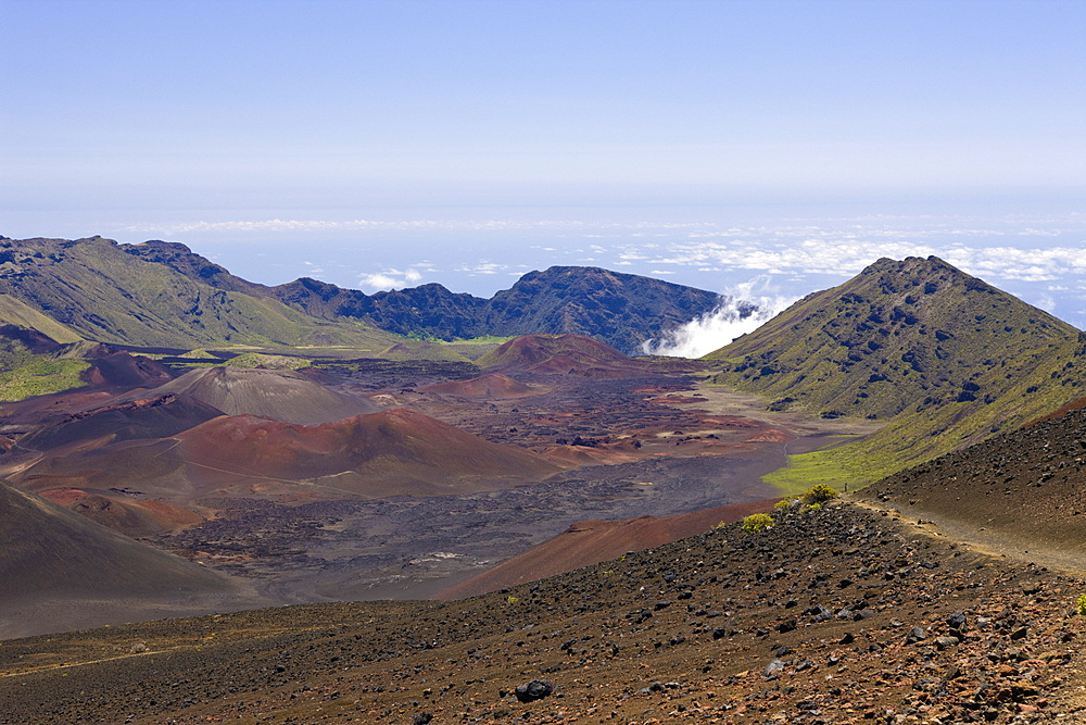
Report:
M276 300L215 289L101 237L0 238L0 295L76 335L122 345L380 350L400 339L362 323L317 320Z

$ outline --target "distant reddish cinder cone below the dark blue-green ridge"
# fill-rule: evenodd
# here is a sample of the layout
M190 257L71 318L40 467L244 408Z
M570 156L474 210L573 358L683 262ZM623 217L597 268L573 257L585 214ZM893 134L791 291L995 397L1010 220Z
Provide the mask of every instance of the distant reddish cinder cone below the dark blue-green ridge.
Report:
M480 367L589 378L640 377L657 370L582 335L525 335L476 361Z

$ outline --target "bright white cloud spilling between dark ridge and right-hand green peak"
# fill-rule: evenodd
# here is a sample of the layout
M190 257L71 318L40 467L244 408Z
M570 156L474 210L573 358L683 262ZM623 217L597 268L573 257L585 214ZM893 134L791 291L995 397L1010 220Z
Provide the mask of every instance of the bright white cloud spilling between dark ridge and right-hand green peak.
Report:
M772 295L768 277L725 290L723 301L712 312L695 317L658 340L648 340L642 350L653 355L700 358L753 332L792 304L795 297Z

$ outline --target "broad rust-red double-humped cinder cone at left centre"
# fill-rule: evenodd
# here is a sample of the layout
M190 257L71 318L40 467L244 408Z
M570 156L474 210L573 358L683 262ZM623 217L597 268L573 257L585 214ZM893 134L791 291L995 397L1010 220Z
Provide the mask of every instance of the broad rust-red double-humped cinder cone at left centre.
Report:
M38 493L75 488L97 496L84 513L130 530L148 516L162 525L189 521L173 509L134 511L135 502L123 500L129 493L186 507L206 496L285 502L450 496L534 483L559 470L531 451L392 410L311 426L224 415L169 438L53 451L8 475ZM117 489L125 489L121 497Z

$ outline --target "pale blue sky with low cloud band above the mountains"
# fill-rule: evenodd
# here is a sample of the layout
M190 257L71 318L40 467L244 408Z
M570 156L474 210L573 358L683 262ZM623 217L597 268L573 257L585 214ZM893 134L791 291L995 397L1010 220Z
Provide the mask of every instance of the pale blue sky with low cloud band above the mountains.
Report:
M1082 326L1084 28L1082 0L0 0L0 234L477 293L550 263L805 293L919 251Z

